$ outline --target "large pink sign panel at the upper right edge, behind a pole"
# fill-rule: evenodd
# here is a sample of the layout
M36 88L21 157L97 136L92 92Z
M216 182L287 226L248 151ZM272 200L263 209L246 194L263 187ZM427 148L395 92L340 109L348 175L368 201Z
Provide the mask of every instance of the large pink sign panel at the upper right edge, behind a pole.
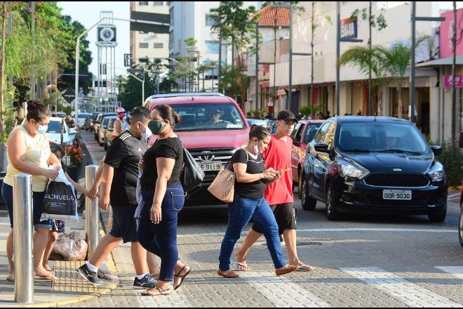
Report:
M453 33L453 12L442 13L441 17L445 17L445 20L441 22L441 39L440 39L440 58L447 58L453 55L452 51L452 33ZM457 20L462 20L463 9L457 10ZM463 44L458 39L461 37L459 33L459 25L457 24L457 55L463 55Z

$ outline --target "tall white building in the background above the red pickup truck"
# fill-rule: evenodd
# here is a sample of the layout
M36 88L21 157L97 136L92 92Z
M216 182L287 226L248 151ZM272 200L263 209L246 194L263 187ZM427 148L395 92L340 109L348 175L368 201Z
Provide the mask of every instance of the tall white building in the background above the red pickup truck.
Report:
M245 6L255 6L257 1L246 1ZM217 8L220 1L170 1L170 41L169 54L171 58L184 58L192 55L199 56L199 64L213 63L218 66L219 60L219 40L217 34L213 33L210 26L213 25L213 15L210 14L211 8ZM196 53L187 53L187 45L184 40L196 39L194 51ZM196 59L196 58L195 58ZM222 65L231 63L231 48L222 46ZM186 90L217 90L217 68L206 71L204 79L199 78L198 81L192 81L191 85L181 86Z

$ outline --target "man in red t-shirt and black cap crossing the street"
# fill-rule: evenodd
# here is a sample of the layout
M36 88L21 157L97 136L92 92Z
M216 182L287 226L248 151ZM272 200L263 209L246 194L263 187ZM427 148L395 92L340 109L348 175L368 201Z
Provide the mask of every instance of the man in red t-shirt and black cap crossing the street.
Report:
M271 136L267 150L262 154L265 159L265 168L272 167L275 171L283 171L283 176L276 182L267 185L265 199L269 202L274 212L276 223L279 226L280 235L288 249L288 262L292 265L299 265L300 271L311 270L309 265L302 263L297 256L296 249L296 222L293 210L293 173L291 171L291 150L293 140L289 137L297 123L293 112L282 110L279 112L276 124L278 130ZM235 251L237 270L250 270L246 264L246 256L250 247L262 235L257 225L249 230L241 248Z

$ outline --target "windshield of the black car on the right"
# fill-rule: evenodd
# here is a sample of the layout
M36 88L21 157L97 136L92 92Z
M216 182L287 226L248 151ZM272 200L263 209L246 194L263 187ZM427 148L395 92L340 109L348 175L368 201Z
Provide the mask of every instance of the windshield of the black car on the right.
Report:
M412 124L354 122L340 124L336 146L344 152L397 152L425 155L427 141Z

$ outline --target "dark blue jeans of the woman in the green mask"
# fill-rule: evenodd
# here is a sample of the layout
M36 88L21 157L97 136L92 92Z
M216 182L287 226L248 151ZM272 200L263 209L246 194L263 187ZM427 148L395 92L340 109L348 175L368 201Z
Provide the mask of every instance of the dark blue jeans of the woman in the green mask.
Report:
M184 193L182 185L167 188L161 204L161 222L153 224L150 219L154 193L142 191L143 207L140 225L138 225L138 242L147 251L161 258L159 280L172 281L175 264L178 261L177 217L183 208Z

